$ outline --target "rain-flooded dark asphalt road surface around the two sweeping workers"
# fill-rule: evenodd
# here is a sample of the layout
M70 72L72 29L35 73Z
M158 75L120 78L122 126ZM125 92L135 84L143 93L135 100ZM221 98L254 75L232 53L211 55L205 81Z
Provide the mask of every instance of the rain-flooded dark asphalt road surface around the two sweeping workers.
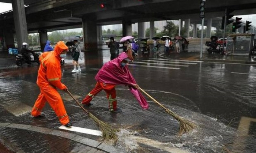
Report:
M93 106L86 109L120 129L115 147L127 153L255 153L256 65L207 63L193 57L186 60L182 54L187 57L185 53L177 56L178 59L174 54L158 59L153 54L139 55L129 69L145 92L196 124L191 133L177 136L179 123L172 116L146 95L150 107L141 109L125 86L116 86L122 113L108 111L104 91L92 100ZM80 62L82 71L71 73L73 66L68 55L62 66L62 82L81 101L93 89L97 71L109 59L109 50L86 51ZM38 65L17 67L11 55L6 55L0 63L0 122L59 130L61 125L48 104L42 112L45 117L34 119L30 115L39 94ZM73 126L99 130L67 93L60 93ZM15 132L12 130L11 133ZM99 136L78 134L100 141ZM8 138L2 132L0 139L3 137Z

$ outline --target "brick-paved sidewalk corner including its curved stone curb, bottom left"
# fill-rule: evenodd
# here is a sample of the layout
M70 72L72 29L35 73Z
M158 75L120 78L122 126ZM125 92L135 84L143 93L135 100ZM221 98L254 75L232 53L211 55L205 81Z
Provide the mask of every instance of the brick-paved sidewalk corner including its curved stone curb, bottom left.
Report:
M0 147L0 153L122 153L77 134L14 123L0 123Z

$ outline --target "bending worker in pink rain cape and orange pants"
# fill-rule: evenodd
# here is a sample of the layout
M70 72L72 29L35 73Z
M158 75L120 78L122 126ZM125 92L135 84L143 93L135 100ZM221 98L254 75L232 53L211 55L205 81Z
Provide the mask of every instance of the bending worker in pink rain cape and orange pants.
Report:
M120 113L122 110L117 107L115 86L123 84L129 87L130 92L138 100L140 106L143 109L148 109L148 103L138 90L138 84L136 84L134 77L128 69L127 63L129 61L131 59L128 58L127 53L122 52L118 58L105 63L95 76L97 81L95 88L87 94L82 104L90 106L93 97L101 90L105 90L109 101L109 111Z

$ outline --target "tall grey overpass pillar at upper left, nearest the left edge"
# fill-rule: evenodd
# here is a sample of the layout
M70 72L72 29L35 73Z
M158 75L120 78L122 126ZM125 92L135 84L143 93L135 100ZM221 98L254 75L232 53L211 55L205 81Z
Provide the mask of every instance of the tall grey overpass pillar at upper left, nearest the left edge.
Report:
M15 31L17 37L18 48L22 47L22 43L28 43L28 29L26 21L26 13L24 8L24 0L12 0L13 16Z

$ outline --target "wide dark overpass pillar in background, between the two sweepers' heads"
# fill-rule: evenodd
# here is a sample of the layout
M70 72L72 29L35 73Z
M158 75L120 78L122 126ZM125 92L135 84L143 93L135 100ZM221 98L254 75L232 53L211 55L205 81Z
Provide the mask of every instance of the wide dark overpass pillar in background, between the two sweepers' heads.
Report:
M83 41L85 50L97 50L97 24L89 17L83 18Z

